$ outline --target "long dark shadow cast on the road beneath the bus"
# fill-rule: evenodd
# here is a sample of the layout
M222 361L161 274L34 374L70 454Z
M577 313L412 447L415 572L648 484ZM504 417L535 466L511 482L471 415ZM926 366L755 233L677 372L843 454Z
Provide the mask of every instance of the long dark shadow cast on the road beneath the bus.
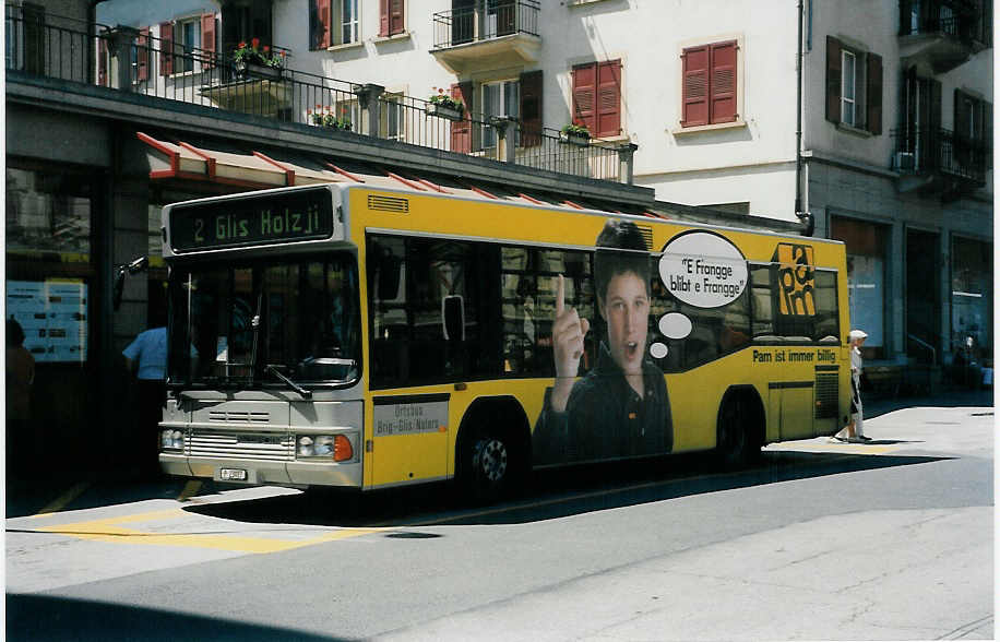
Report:
M705 492L947 459L951 457L765 451L753 467L719 472L713 467L710 455L674 455L641 463L537 472L528 489L490 507L464 504L450 486L436 484L364 496L357 491L328 491L316 497L287 495L191 506L184 510L225 520L270 524L354 527L519 524Z

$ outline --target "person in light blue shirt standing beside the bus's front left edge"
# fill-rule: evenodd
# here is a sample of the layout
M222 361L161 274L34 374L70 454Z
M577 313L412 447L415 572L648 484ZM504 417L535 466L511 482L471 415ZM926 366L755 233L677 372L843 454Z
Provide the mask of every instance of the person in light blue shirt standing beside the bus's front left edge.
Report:
M166 399L167 329L141 332L121 353L129 372L136 371L139 402L140 467L151 477L159 475L159 431ZM152 451L152 452L151 452Z

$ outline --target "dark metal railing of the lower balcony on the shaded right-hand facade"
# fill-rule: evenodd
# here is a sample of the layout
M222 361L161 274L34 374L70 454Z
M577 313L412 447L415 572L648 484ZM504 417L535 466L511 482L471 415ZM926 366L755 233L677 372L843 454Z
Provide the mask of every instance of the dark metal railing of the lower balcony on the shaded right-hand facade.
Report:
M892 135L896 139L894 168L901 174L940 174L983 186L987 170L992 169L988 141L939 128L894 130Z

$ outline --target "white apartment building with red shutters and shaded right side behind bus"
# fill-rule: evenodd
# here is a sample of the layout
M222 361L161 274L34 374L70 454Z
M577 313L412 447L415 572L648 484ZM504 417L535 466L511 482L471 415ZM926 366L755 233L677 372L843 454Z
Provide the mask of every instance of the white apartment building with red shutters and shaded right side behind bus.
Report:
M274 3L276 37L310 34L303 69L443 90L519 119L525 147L539 120L585 126L638 144L660 201L844 240L854 322L895 387L991 358L989 0L308 7Z

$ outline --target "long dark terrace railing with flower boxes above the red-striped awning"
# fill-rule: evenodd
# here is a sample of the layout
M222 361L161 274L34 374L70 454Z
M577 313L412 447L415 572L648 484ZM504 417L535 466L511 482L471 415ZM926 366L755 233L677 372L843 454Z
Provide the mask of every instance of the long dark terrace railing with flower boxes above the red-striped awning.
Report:
M519 4L534 4L519 2ZM537 9L537 7L535 7ZM178 100L276 121L349 130L471 156L492 158L537 169L603 180L622 180L622 154L631 160L634 146L562 142L555 130L513 133L488 115L463 114L460 119L439 115L430 103L403 95L372 96L372 85L316 75L287 67L238 69L217 52L140 34L131 28L97 25L85 31L7 16L7 69L69 82L106 86L119 92ZM290 56L285 56L287 61ZM378 118L370 118L378 105ZM368 112L366 127L361 115ZM321 119L319 116L332 115ZM319 122L318 122L319 121ZM328 131L326 129L323 130ZM334 134L331 134L334 135ZM507 152L505 135L514 152ZM504 145L501 145L501 142Z

